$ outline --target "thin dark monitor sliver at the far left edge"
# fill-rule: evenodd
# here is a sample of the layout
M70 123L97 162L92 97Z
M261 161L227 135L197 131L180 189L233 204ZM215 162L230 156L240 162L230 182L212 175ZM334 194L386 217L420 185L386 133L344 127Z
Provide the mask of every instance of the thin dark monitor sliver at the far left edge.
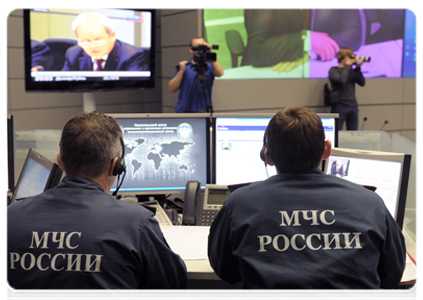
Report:
M5 116L5 137L6 142L4 145L4 150L6 156L3 157L3 166L5 167L5 181L4 181L4 190L5 192L13 192L15 187L15 155L14 155L14 131L13 131L13 116Z

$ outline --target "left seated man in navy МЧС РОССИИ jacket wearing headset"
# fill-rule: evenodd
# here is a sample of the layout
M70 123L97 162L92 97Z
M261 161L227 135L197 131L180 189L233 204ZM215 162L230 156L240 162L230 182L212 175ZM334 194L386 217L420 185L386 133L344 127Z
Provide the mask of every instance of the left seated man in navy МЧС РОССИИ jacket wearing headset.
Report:
M153 213L108 191L125 172L112 117L79 113L65 125L56 188L5 213L6 299L174 299L187 272Z

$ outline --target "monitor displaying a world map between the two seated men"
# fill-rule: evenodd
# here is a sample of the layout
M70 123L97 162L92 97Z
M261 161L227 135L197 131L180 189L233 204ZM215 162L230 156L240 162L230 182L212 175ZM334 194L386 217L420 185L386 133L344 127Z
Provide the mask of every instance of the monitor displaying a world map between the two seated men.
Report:
M125 143L120 195L166 195L185 191L190 180L203 188L209 183L210 114L111 116L121 125Z

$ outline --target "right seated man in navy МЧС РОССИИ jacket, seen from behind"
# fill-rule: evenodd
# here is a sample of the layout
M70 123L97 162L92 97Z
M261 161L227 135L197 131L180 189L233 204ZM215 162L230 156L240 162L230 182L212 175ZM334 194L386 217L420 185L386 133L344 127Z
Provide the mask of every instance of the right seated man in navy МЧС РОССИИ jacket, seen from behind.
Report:
M399 284L401 229L365 187L325 175L321 119L294 106L269 122L263 150L278 174L231 193L210 228L216 274L244 299L372 299Z

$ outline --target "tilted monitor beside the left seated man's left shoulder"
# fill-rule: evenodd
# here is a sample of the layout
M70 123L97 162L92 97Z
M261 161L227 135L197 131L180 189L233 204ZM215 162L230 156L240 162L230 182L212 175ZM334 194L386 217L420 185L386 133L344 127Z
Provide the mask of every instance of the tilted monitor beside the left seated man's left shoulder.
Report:
M54 161L32 148L29 149L13 193L12 203L39 195L57 186L62 175L63 171Z

